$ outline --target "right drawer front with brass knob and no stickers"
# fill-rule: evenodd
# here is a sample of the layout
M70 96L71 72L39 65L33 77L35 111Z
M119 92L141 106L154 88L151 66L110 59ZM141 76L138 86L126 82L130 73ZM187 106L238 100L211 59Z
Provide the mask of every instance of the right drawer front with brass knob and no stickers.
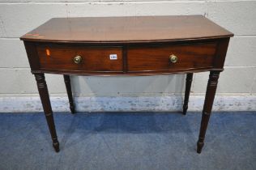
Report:
M128 71L168 71L211 67L215 47L216 43L130 47L127 51ZM172 61L171 57L173 57Z

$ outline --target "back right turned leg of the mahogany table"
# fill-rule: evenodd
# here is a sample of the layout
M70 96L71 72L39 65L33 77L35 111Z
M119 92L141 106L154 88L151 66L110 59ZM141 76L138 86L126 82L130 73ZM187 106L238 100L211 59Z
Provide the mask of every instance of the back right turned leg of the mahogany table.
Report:
M193 79L193 73L186 74L186 90L185 90L185 98L184 98L184 104L183 104L184 115L186 115L186 111L188 109L192 79Z

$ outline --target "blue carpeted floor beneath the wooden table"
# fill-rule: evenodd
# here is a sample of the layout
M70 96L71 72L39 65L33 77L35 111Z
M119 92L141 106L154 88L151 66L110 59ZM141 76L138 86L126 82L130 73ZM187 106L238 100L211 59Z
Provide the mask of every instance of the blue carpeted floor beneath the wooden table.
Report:
M256 169L256 113L213 113L196 153L200 113L0 113L0 169Z

